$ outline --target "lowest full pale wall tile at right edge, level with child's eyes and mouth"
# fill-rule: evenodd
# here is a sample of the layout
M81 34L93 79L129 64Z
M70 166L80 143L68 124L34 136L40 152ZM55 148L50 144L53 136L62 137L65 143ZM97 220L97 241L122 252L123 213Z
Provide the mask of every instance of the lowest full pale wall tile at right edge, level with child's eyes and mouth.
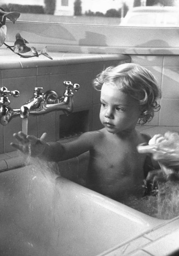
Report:
M162 99L159 113L160 126L179 126L179 99Z

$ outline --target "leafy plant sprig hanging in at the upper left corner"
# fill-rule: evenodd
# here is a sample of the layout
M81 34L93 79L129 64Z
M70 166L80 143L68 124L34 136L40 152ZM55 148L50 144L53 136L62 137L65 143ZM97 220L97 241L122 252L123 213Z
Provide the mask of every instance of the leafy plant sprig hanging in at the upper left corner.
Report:
M47 58L52 60L52 57L48 55L46 52L46 47L41 50L40 53L38 53L37 49L35 47L29 47L26 44L29 44L29 42L24 39L20 33L17 33L15 35L15 42L13 46L9 46L8 44L5 43L6 39L6 33L7 33L7 27L5 25L6 23L6 17L15 23L15 21L19 18L20 13L19 12L10 12L7 13L4 11L3 8L0 8L0 46L3 44L9 48L12 52L16 53L22 58L32 58L32 57L39 57L39 55L44 55ZM32 52L32 55L22 55L21 53L26 53L26 52Z

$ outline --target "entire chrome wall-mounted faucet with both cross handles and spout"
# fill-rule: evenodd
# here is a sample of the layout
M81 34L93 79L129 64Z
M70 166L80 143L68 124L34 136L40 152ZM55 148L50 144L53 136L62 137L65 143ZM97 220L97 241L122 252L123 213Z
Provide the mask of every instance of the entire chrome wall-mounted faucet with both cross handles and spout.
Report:
M64 81L65 91L63 96L58 96L56 91L49 90L43 93L43 87L35 87L34 94L20 109L12 109L7 94L13 97L19 97L19 91L8 91L6 87L0 88L0 123L6 125L16 116L20 118L29 118L29 115L43 115L52 111L62 110L66 115L73 111L73 92L72 88L77 91L80 86L77 83Z

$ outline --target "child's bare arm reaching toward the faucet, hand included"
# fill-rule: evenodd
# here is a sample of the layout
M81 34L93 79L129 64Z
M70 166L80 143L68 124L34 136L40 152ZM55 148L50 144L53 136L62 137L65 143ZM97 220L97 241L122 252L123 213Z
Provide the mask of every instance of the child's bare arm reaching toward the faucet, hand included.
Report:
M17 143L11 143L11 146L19 149L24 154L31 154L32 157L39 157L48 161L59 162L62 160L76 157L93 147L95 132L83 133L79 138L67 143L54 142L45 143L46 133L40 137L25 135L22 132L14 133Z

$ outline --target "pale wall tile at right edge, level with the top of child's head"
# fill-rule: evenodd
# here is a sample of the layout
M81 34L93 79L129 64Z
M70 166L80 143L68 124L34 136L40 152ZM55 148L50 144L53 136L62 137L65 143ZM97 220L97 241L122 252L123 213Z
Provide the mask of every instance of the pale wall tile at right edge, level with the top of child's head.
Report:
M179 68L164 67L162 77L162 97L179 98Z

